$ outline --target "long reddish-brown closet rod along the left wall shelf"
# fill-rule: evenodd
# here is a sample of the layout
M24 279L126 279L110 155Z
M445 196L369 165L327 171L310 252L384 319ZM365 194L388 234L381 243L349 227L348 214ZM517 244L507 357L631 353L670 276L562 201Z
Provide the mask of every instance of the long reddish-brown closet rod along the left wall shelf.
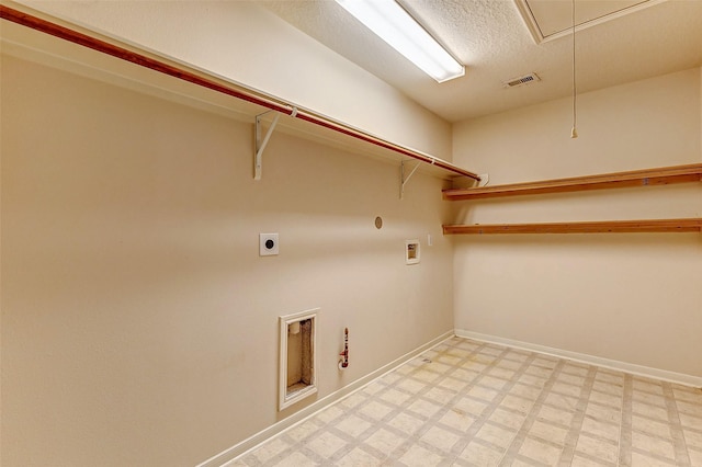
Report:
M287 104L285 102L281 102L280 100L276 100L274 98L264 95L262 93L252 91L250 89L246 89L240 86L234 86L231 83L226 83L226 82L217 82L216 80L200 76L196 72L188 70L186 67L183 65L169 64L162 58L150 57L135 50L129 50L127 48L117 46L115 44L111 44L109 42L99 39L88 34L83 34L81 32L75 31L70 27L61 26L52 21L44 20L38 16L34 16L32 14L9 8L7 5L0 4L0 18L16 24L33 29L35 31L52 35L54 37L58 37L64 41L68 41L73 44L100 52L102 54L110 55L112 57L115 57L125 61L129 61L140 67L149 68L154 71L158 71L160 73L165 73L173 78L178 78L180 80L188 81L190 83L193 83L203 88L207 88L210 90L213 90L223 94L230 95L233 98L237 98L247 102L251 102L257 105L261 105L265 109L270 109L270 110L283 113L285 115L292 116L293 113L295 112L296 106ZM429 163L431 166L439 167L456 175L468 176L477 181L480 180L480 178L477 174L469 172L467 170L461 169L460 167L453 166L450 162L434 158L432 156L424 155L422 152L419 152L409 148L405 148L403 146L392 144L385 139L370 135L365 132L353 128L340 122L335 122L329 117L316 114L312 111L298 110L295 117L313 123L315 125L335 130L337 133L351 136L355 139L360 139L362 141L366 141L372 145L375 145L385 149L389 149L394 152Z

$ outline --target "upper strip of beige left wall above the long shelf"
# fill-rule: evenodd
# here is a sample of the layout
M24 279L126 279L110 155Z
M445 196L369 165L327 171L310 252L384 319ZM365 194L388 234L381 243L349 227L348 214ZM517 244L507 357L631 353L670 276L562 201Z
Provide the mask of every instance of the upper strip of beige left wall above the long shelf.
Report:
M86 25L395 144L451 160L450 124L256 2L9 3Z

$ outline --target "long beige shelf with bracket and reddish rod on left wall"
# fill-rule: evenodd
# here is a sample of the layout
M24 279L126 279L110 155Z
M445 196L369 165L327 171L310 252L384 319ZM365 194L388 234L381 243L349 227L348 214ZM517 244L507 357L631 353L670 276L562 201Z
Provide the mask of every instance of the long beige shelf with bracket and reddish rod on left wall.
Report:
M90 69L91 77L105 72L109 82L121 82L115 77L126 78L129 86L138 82L141 91L152 88L157 95L173 92L179 102L192 98L197 105L212 105L218 112L234 112L250 119L256 117L259 121L257 129L260 129L259 117L262 112L274 111L275 115L283 114L290 117L279 127L295 130L296 135L339 144L354 152L369 152L384 160L414 160L423 171L443 179L466 176L480 180L476 173L443 159L392 143L278 96L64 20L46 14L35 15L36 12L30 8L20 4L18 8L20 10L0 4L0 19L7 21L2 23L3 52L18 47L23 53L31 49L35 56L42 56L52 62L65 60L66 64L61 62L61 66L66 69L84 66ZM5 47L5 42L10 47ZM105 57L113 57L114 60ZM256 180L261 178L261 156L271 133L269 129L265 139L261 137L257 140L253 152Z

